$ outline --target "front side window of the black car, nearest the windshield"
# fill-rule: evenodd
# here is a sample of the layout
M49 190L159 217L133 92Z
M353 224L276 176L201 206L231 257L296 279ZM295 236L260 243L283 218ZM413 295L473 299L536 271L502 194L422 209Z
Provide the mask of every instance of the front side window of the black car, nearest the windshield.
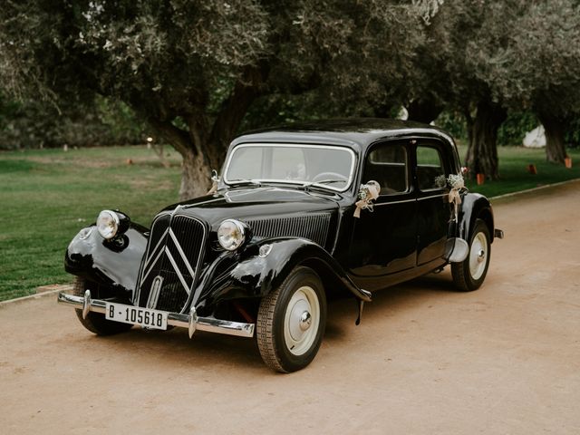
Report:
M374 179L381 185L381 195L407 191L407 151L400 144L375 145L364 164L364 182Z

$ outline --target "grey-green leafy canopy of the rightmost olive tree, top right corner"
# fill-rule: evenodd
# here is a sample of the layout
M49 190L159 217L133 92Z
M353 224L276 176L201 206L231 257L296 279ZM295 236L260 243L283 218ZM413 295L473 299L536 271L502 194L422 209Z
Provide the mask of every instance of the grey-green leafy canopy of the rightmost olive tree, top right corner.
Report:
M505 32L481 35L478 75L496 99L558 118L580 111L578 2L509 0L493 9Z

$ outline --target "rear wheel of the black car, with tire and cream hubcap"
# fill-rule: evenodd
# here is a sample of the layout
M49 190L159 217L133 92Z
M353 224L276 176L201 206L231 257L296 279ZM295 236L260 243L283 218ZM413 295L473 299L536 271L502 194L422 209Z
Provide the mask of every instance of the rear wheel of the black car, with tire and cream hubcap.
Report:
M488 275L491 258L491 237L486 223L476 219L469 239L468 257L461 263L451 263L453 283L461 292L477 290Z

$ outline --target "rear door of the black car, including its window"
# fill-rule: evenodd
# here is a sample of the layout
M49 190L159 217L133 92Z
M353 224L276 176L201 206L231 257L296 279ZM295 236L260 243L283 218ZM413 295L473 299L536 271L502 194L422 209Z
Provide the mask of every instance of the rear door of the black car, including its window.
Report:
M449 237L449 165L439 140L416 141L415 187L417 191L417 265L443 263Z

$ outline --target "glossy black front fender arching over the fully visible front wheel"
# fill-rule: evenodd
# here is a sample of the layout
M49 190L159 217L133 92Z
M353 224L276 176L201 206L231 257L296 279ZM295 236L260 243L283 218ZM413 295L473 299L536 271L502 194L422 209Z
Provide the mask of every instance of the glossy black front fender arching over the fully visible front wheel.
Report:
M265 245L270 245L271 249L266 256L260 256L259 248ZM324 276L325 282L330 279L333 285L338 285L336 290L347 290L362 301L371 301L370 292L355 285L324 248L303 238L270 239L248 247L236 266L229 268L226 276L216 279L218 285L203 292L202 299L205 304L216 304L220 300L265 296L300 265L312 267Z

